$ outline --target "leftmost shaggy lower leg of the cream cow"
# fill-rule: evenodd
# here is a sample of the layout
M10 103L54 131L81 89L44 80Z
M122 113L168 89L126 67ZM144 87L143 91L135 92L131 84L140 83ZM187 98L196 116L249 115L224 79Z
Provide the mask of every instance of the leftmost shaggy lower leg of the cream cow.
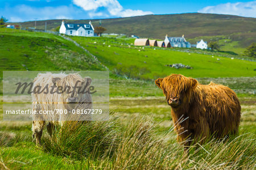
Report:
M32 131L33 131L33 138L36 138L36 145L41 144L41 137L43 134L44 125L46 121L33 121L32 124Z

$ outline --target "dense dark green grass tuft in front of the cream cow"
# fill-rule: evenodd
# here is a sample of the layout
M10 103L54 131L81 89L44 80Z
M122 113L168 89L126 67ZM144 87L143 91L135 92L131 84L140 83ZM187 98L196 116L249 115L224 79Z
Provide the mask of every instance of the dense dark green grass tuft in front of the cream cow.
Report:
M44 150L68 158L101 156L115 146L118 135L113 121L67 121L56 127L52 137L44 139Z

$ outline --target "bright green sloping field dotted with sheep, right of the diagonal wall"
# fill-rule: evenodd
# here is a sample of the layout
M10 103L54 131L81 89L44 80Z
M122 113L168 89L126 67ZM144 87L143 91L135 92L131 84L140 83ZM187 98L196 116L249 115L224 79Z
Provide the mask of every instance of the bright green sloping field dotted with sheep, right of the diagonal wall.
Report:
M238 56L220 57L215 53L179 52L179 49L150 48L131 45L134 39L106 37L72 37L80 45L108 66L115 74L130 78L155 79L171 73L192 77L254 76L255 62L236 59ZM185 51L185 50L184 50ZM210 52L209 52L210 53ZM166 65L183 63L193 69L175 69Z

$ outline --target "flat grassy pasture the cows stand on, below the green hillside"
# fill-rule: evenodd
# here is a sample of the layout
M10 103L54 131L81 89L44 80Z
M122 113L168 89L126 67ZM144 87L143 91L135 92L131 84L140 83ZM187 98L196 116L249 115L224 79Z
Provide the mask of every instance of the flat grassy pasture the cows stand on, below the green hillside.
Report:
M57 130L53 141L45 130L42 147L32 142L31 122L1 122L0 167L5 164L10 169L255 168L256 97L250 94L255 92L255 78L198 80L213 80L238 92L242 120L236 137L229 141L209 140L184 155L183 147L176 142L171 109L162 91L150 82L112 79L109 121L94 122L90 128L79 127L76 133L69 126L61 136ZM83 140L87 142L76 144ZM72 145L65 141L72 141Z

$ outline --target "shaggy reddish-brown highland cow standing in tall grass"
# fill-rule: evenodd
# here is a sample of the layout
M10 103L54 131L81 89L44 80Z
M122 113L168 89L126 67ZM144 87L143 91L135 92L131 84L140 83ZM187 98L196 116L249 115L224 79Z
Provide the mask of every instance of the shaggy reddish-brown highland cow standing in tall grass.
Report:
M212 82L203 85L180 74L159 78L155 84L171 106L177 141L185 147L210 135L222 138L237 133L241 105L229 87Z

